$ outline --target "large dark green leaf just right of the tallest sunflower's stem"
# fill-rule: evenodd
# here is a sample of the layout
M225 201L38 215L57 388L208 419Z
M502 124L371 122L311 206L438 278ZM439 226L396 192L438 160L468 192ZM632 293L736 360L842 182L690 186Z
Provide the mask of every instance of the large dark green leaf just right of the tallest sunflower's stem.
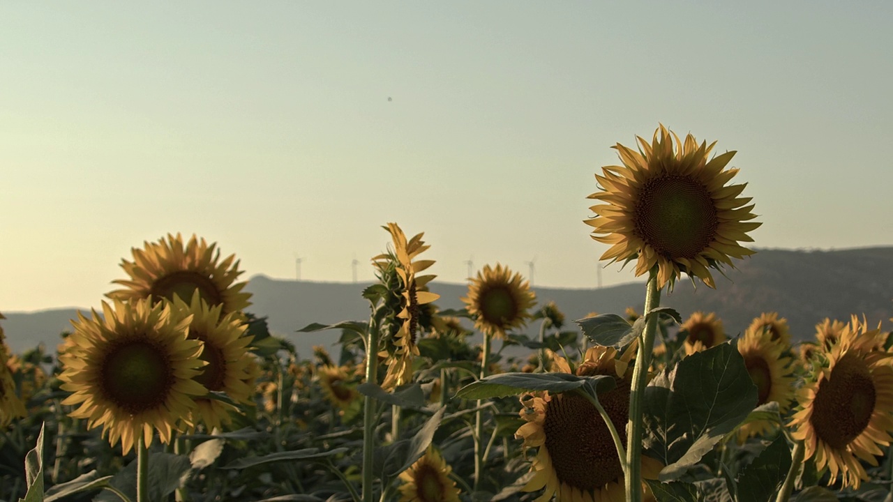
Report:
M756 387L731 343L680 361L645 389L643 442L666 467L661 481L685 473L756 406Z

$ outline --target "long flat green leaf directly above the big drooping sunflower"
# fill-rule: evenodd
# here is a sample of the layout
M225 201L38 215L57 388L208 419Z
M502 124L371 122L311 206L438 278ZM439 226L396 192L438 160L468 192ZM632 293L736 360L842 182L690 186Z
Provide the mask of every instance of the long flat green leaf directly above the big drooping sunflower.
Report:
M552 393L582 388L587 381L595 381L598 392L606 392L615 385L612 377L597 375L579 377L570 373L500 373L472 382L456 393L463 399L489 399L491 397L516 396L523 392L548 390Z

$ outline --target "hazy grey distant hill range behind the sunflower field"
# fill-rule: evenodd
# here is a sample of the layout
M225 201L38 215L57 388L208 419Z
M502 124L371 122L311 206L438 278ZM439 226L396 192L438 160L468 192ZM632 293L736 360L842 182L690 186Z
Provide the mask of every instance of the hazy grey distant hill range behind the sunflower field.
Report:
M848 320L865 314L869 322L884 322L890 329L893 316L893 247L839 251L761 249L750 259L727 271L729 280L714 272L717 289L688 280L680 281L672 294L664 293L661 305L672 306L683 317L697 310L716 312L730 335L744 330L755 316L779 312L788 319L794 339L809 339L814 325L824 317ZM631 277L630 272L630 277ZM246 291L253 293L249 311L267 316L270 328L296 343L306 353L315 344L330 344L336 332L296 333L311 322L333 323L366 320L369 308L360 296L368 283L275 280L257 275ZM441 308L463 306L464 284L431 283L441 298ZM555 300L569 320L589 312L622 314L627 306L639 312L644 305L645 283L632 282L603 289L535 288L538 300ZM98 300L97 300L98 301ZM6 336L15 351L44 341L58 343L62 330L71 330L76 309L36 313L6 313ZM530 328L530 331L534 328Z

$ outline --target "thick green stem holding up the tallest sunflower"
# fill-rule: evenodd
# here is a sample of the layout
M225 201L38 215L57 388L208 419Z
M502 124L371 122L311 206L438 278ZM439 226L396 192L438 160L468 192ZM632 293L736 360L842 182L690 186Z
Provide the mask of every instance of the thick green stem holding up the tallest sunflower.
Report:
M645 313L661 304L661 290L657 288L657 268L648 274L645 295ZM645 332L638 339L636 364L632 369L630 384L630 423L627 425L626 441L626 499L629 502L642 500L642 406L645 403L645 385L648 380L648 366L651 364L651 351L655 345L657 315L647 317Z

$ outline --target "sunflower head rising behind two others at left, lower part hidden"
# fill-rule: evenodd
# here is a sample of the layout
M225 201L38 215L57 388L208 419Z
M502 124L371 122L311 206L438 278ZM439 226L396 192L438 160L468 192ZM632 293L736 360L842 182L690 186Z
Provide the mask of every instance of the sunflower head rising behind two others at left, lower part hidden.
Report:
M131 248L133 261L121 260L129 280L114 280L127 289L117 289L106 297L121 301L154 297L188 302L198 291L211 306L223 305L222 314L239 312L251 303L251 293L243 293L245 282L233 284L239 275L236 255L220 261L217 243L210 246L195 235L184 246L183 238L168 234L167 240L145 242L144 249Z

